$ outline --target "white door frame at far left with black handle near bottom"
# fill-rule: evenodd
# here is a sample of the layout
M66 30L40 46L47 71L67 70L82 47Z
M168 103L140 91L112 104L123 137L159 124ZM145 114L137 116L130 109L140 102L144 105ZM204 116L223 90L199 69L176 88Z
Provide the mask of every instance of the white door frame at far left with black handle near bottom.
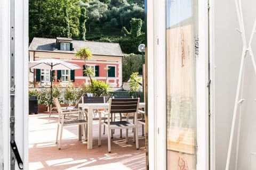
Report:
M12 7L10 0L1 0L0 104L2 104L4 170L10 169L10 12ZM15 142L23 161L23 169L28 169L28 0L15 1L14 11ZM17 162L15 164L15 169L19 169Z

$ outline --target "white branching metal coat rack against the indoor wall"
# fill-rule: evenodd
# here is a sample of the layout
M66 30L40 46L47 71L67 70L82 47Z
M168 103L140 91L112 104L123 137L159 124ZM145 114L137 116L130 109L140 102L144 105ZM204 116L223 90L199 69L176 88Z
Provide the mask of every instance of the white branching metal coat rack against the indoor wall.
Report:
M234 106L234 112L233 112L233 120L232 120L232 124L231 124L231 132L230 132L230 138L229 138L226 170L229 170L231 148L232 148L232 144L233 144L235 122L236 122L236 116L237 116L237 106L238 106L238 104L242 104L242 102L244 101L244 99L239 99L239 95L240 95L241 83L242 83L244 58L245 58L247 53L251 56L253 69L254 69L254 72L256 74L256 65L255 65L255 60L254 60L254 56L253 56L253 53L252 53L252 47L251 47L252 39L253 39L254 33L256 32L256 30L255 30L256 29L256 19L255 19L254 24L253 24L253 29L252 29L252 32L251 32L249 44L247 46L246 37L245 37L245 29L244 29L244 20L243 20L241 0L235 0L235 5L236 5L237 18L238 18L238 22L239 22L239 29L236 28L236 30L239 33L241 33L242 41L243 41L243 50L242 50L241 64L240 64L240 70L239 70L239 75L238 75L238 83L237 83L237 89L236 89L236 99L235 99L235 106ZM239 121L241 121L241 120L239 120ZM239 131L240 131L240 122L238 123L238 135L239 135ZM237 149L237 151L238 151L238 149ZM236 154L238 154L238 153L236 153ZM237 168L237 156L236 156L236 168Z

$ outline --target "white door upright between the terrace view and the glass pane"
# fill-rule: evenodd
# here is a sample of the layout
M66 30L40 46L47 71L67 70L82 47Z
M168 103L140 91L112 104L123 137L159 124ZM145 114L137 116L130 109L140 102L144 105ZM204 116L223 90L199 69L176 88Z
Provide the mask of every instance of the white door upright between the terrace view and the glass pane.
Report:
M165 0L147 1L149 169L166 169Z

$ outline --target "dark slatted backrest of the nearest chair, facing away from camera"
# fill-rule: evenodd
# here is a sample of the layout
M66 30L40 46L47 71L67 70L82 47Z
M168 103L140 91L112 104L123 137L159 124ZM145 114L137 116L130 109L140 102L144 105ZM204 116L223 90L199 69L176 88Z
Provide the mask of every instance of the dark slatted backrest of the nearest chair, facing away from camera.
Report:
M137 112L139 98L114 98L110 99L110 113L134 113Z

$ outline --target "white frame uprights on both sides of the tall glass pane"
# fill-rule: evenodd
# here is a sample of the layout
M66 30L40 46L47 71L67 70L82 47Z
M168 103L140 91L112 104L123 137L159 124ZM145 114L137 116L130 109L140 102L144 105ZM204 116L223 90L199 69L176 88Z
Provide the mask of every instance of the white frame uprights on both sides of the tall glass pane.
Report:
M149 168L166 169L165 0L147 1ZM208 2L198 0L197 170L209 169Z

